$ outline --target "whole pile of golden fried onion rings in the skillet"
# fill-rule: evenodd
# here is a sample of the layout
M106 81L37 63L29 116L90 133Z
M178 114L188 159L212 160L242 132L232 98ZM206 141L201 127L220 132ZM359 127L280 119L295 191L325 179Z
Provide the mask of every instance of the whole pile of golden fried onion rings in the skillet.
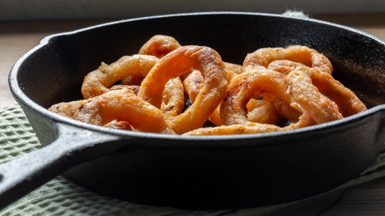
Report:
M261 48L237 65L210 47L156 35L137 54L89 72L83 100L49 110L110 128L182 136L287 131L367 109L332 72L329 59L307 46ZM290 123L278 125L282 119Z

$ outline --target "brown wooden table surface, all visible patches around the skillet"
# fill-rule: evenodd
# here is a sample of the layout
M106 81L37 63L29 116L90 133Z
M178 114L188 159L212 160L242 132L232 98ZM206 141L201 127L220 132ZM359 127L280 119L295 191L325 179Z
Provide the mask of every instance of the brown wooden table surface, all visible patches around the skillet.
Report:
M310 17L353 27L385 39L385 13L314 14ZM114 20L0 22L0 108L16 104L8 86L11 67L44 36L109 21ZM329 193L269 215L382 216L385 215L385 178Z

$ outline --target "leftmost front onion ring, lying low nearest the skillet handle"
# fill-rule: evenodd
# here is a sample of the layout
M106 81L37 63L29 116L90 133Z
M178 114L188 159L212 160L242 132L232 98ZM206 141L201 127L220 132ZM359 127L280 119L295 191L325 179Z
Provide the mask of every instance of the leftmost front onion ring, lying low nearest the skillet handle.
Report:
M126 121L141 132L175 134L162 111L129 89L110 91L90 99L60 103L48 110L95 125Z

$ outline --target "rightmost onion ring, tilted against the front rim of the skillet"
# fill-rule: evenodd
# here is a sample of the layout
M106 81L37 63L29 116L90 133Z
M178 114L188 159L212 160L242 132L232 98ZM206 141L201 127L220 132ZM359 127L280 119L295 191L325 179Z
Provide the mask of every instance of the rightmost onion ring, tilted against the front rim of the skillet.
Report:
M354 92L327 72L306 66L297 67L287 74L284 83L292 99L307 110L318 124L367 109Z

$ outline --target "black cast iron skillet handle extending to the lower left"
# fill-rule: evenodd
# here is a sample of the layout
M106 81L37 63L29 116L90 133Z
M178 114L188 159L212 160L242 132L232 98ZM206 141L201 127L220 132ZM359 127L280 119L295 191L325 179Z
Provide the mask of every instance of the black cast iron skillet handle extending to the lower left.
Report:
M0 210L69 168L110 153L122 145L111 144L121 139L117 135L63 123L57 123L55 127L58 135L54 142L0 164Z

